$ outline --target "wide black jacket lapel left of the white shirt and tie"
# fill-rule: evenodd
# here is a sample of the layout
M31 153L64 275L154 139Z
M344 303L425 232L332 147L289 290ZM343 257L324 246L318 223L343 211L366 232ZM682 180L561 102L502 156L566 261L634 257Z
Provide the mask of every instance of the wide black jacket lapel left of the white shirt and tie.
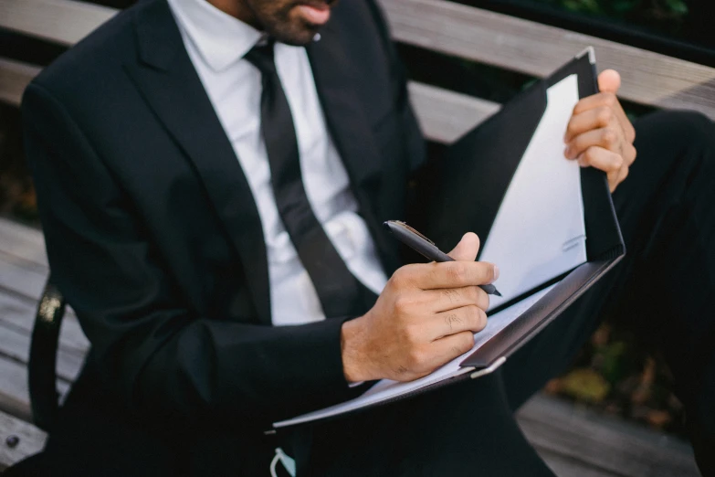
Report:
M192 162L237 249L258 318L270 323L268 260L246 175L188 57L165 0L135 16L140 63L125 65L142 95Z

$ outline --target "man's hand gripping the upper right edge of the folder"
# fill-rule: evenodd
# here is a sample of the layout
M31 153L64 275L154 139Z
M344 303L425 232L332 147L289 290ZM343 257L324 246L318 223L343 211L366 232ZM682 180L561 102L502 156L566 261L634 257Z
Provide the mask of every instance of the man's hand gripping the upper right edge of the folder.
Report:
M620 87L621 77L613 69L598 75L601 92L576 104L564 137L564 155L584 167L605 171L611 192L626 179L628 167L636 160L636 130L615 97Z

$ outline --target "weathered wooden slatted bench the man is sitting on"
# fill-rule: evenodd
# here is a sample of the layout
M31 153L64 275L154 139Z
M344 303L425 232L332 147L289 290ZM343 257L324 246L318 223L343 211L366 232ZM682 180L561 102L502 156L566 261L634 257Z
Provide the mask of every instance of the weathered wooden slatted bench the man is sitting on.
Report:
M599 68L623 75L621 96L657 108L701 111L715 119L715 69L562 28L544 26L443 0L381 0L394 39L404 45L543 76L593 45ZM2 0L0 28L71 46L116 14L74 0ZM0 101L19 105L40 68L0 58ZM499 104L411 81L411 99L426 137L450 143ZM0 219L0 470L41 449L45 434L32 421L26 366L33 318L45 281L42 234ZM68 390L89 343L68 311L58 348L58 390ZM519 414L520 425L559 475L698 475L689 445L663 434L537 397ZM19 437L10 446L10 436Z

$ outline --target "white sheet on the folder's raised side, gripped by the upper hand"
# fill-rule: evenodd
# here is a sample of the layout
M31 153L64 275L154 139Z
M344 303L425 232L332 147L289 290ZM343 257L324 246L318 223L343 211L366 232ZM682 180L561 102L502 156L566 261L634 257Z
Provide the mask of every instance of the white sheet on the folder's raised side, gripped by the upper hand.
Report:
M580 167L563 156L579 101L576 75L547 90L547 106L511 179L479 260L499 266L490 309L586 261Z

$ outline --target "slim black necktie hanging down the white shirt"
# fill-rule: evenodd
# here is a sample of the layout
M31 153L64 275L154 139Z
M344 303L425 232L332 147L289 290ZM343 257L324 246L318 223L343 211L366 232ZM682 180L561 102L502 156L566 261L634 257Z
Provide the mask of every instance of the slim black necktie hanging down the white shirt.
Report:
M246 59L262 74L261 132L283 225L318 292L323 313L329 318L355 313L363 309L363 286L348 270L310 207L300 175L293 118L273 60L273 42L254 47Z

